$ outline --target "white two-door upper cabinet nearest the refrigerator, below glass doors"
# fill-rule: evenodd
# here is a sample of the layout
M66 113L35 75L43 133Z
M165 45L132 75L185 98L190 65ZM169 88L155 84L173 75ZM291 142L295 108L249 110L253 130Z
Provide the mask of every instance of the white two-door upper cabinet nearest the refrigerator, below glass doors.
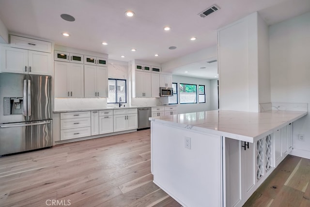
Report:
M55 97L84 97L84 65L55 61Z

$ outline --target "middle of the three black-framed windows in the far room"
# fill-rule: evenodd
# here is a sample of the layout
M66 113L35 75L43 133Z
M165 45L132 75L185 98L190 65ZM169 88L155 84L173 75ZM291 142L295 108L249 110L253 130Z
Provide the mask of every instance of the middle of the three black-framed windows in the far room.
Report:
M180 104L197 103L197 85L180 83Z

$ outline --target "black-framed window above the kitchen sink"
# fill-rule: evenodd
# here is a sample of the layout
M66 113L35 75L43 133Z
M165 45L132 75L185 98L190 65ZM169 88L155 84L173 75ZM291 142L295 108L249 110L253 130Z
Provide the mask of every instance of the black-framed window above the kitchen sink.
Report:
M109 79L108 103L127 103L126 80Z

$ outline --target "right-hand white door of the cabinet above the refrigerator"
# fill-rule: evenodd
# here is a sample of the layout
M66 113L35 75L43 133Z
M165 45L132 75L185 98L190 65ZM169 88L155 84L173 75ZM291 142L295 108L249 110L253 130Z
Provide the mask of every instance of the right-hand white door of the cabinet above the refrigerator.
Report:
M53 75L52 58L50 53L28 51L29 74Z

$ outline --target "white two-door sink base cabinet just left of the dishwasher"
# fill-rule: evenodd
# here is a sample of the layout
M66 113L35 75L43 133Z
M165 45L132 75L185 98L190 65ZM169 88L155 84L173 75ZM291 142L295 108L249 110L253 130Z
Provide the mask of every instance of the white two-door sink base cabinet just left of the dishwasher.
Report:
M114 132L138 128L137 109L113 110Z

